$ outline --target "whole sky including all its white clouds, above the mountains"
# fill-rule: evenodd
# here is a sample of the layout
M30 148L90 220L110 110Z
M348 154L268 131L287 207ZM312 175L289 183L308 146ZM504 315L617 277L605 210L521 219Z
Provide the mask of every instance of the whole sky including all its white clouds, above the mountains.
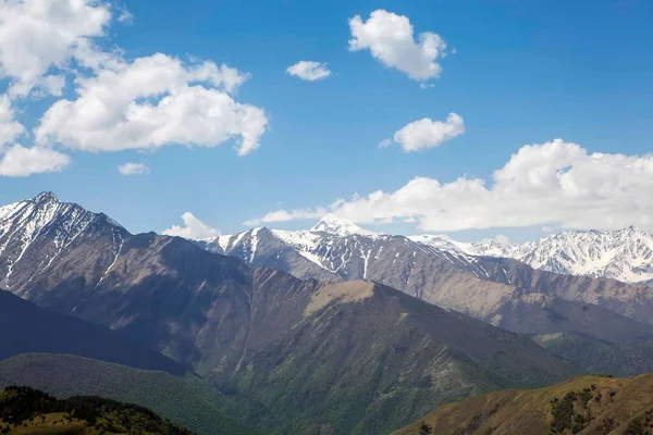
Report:
M0 203L51 190L193 237L326 213L653 232L652 22L645 0L0 0Z

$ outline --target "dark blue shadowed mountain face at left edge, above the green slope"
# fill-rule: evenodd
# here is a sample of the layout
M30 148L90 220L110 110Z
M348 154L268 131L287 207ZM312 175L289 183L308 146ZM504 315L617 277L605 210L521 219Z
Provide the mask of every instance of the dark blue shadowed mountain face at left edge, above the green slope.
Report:
M104 326L44 310L0 290L0 360L26 352L70 353L137 369L186 370Z

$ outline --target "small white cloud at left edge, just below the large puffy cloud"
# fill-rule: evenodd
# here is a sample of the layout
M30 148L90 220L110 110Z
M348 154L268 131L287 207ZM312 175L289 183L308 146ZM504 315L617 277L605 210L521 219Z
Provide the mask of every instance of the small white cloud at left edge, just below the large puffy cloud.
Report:
M48 148L14 145L0 158L0 176L28 176L63 171L71 158Z

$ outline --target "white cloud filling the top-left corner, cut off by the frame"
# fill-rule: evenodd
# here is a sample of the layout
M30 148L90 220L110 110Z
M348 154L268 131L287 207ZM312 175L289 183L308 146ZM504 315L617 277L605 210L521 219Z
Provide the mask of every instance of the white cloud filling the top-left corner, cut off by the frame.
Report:
M12 97L35 87L61 95L52 67L63 69L78 44L101 36L110 7L96 0L2 0L0 7L0 77L9 77ZM57 75L57 74L54 74Z

